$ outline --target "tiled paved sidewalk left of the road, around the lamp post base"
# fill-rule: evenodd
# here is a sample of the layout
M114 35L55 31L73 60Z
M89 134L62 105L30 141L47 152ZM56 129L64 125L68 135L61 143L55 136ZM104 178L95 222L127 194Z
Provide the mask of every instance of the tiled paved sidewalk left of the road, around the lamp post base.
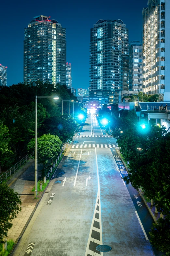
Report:
M38 164L38 180L41 177L41 170L43 169L42 164ZM23 170L16 173L7 183L8 186L14 189L15 192L21 196L21 212L17 215L12 223L12 228L8 231L7 240L12 239L14 242L20 236L24 226L26 225L28 219L30 218L36 203L39 199L34 199L34 192L31 190L34 187L34 173L35 173L35 163L34 160L29 160L29 162L23 167ZM39 193L38 197L41 197Z

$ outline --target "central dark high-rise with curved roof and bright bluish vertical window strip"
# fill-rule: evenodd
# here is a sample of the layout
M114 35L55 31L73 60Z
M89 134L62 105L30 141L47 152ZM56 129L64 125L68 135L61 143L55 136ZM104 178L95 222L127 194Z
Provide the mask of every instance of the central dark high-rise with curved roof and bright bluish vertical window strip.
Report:
M120 91L120 58L128 51L128 29L121 20L98 20L93 25L90 96L108 96Z

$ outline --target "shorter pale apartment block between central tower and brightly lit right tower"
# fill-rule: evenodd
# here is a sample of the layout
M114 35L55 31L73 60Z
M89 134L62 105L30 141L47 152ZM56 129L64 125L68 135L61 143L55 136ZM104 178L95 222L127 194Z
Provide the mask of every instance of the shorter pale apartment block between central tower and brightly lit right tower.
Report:
M129 90L132 94L142 92L142 43L132 41L129 44Z

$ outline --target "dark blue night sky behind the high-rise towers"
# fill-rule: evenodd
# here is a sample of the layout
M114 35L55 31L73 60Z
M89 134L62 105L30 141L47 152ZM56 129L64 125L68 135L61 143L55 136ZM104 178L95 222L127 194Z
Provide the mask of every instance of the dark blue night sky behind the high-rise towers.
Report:
M89 86L90 28L99 19L121 19L129 41L142 37L142 9L148 0L1 1L0 63L7 66L7 84L23 81L24 27L37 15L51 16L66 28L67 61L72 86Z

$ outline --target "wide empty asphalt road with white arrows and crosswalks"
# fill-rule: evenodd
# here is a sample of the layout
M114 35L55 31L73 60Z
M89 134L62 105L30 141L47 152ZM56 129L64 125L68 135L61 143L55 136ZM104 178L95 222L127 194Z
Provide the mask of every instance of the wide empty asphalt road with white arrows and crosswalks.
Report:
M126 174L113 145L116 140L88 116L13 255L103 255L96 250L102 244L112 247L108 255L159 255L148 240L151 217L121 179Z

